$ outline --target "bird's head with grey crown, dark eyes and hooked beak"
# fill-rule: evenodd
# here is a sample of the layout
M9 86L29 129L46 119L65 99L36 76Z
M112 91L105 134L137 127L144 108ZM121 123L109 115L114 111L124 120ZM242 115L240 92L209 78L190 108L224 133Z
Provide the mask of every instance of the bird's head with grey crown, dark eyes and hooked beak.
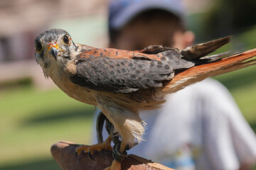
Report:
M77 54L78 47L67 31L51 29L38 35L34 42L35 56L46 77L55 69L63 69Z

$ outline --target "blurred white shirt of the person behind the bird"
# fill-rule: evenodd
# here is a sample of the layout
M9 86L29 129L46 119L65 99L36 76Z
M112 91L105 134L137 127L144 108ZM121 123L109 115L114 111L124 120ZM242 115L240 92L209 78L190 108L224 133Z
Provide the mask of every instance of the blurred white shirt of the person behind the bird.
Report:
M174 169L233 170L256 160L255 133L228 90L213 79L166 95L161 108L140 116L147 123L145 141L129 154Z

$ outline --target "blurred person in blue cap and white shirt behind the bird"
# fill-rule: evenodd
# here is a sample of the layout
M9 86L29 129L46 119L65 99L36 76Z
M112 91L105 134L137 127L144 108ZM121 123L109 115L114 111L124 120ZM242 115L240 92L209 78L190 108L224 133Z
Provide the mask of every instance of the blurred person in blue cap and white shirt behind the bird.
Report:
M109 47L123 50L184 49L194 40L179 0L111 1L109 33ZM147 124L145 141L129 154L174 169L250 169L255 164L255 133L218 81L206 79L168 94L161 108L140 115Z

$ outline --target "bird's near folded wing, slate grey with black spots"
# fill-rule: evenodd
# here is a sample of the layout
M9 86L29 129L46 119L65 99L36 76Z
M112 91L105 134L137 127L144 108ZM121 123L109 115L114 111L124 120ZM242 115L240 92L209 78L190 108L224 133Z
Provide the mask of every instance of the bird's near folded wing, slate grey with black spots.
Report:
M98 91L130 93L138 89L163 86L174 77L168 62L155 60L114 59L110 57L78 57L71 80Z

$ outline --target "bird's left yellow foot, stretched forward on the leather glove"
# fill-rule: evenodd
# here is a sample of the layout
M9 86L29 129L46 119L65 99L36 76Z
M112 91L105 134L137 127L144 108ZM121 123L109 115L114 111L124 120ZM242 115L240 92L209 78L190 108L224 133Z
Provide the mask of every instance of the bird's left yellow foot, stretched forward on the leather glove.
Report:
M98 143L96 145L91 145L91 146L82 146L82 147L77 147L75 149L75 152L77 152L78 154L80 154L82 151L84 151L85 153L91 153L93 154L93 152L96 151L101 151L102 149L108 149L110 151L112 151L112 146L111 146L111 141L112 141L112 137L111 135L109 137L107 137L107 139L102 142L102 143Z

